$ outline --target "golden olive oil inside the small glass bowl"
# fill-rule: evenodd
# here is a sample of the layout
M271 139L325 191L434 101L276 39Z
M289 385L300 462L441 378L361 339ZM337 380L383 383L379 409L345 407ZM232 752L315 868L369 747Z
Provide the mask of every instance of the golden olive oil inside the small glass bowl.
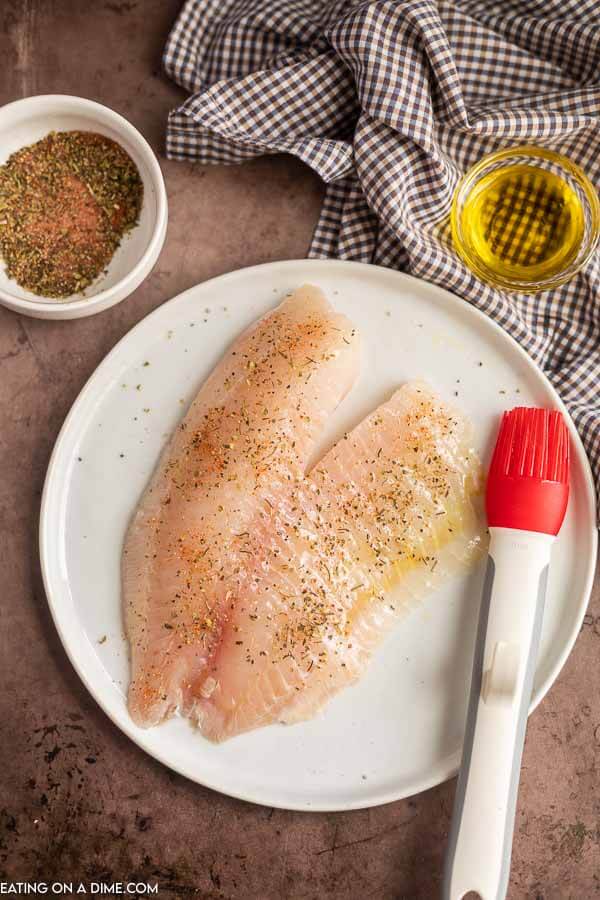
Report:
M539 282L576 258L585 231L576 191L560 175L527 164L484 175L460 213L462 241L499 280Z

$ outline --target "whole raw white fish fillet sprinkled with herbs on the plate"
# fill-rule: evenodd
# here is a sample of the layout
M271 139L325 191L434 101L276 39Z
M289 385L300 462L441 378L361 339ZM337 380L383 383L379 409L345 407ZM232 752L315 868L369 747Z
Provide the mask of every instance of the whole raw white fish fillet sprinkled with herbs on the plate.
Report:
M138 724L179 711L220 741L313 715L476 552L470 428L424 384L402 387L306 472L358 368L352 324L304 287L201 388L123 551Z

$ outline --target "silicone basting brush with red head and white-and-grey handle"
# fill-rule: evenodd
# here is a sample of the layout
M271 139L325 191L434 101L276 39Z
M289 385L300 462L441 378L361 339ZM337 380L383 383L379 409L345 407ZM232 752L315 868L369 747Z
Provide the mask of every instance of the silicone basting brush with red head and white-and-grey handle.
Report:
M560 412L505 413L486 490L488 568L479 614L444 900L506 896L521 755L550 551L569 498Z

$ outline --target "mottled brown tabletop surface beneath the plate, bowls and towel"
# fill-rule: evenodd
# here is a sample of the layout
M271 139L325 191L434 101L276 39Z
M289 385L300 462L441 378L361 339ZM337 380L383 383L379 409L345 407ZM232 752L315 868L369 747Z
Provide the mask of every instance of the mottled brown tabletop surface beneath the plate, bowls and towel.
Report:
M0 4L0 102L66 92L124 113L162 154L180 92L159 73L178 0ZM72 671L40 581L40 492L58 429L105 353L165 299L220 272L303 256L321 188L288 159L168 163L167 243L125 303L77 322L0 309L0 874L158 879L161 897L434 900L454 783L379 809L251 806L130 743ZM600 894L600 592L524 757L510 900ZM399 748L401 752L401 748Z

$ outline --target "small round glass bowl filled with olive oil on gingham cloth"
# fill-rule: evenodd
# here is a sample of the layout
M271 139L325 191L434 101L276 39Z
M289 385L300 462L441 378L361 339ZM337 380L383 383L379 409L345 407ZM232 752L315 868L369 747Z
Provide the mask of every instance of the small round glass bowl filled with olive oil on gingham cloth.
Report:
M536 293L564 284L598 243L600 204L585 173L543 147L483 157L452 202L454 246L482 281Z

